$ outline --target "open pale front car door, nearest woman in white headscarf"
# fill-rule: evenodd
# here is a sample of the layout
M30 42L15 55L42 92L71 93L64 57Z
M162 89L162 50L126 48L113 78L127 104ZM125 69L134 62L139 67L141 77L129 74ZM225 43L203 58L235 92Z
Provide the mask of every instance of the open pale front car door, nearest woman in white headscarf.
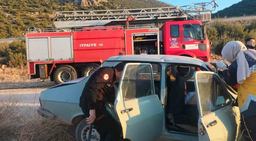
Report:
M239 108L230 96L218 74L194 73L199 111L199 141L237 141L239 135ZM239 138L239 137L238 137Z

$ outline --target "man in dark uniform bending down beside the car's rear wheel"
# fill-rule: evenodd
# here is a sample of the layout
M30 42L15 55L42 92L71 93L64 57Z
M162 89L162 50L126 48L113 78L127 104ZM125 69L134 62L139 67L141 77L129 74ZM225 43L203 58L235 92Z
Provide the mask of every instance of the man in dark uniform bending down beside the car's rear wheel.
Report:
M79 106L85 114L87 124L92 124L100 133L100 141L118 141L122 128L109 114L104 104L115 102L113 83L120 81L124 62L115 67L101 67L89 78L80 97Z

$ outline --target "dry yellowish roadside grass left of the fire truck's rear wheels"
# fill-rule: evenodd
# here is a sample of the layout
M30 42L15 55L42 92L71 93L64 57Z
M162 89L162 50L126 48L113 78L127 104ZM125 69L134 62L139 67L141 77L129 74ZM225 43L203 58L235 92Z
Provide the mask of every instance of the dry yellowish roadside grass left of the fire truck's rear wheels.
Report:
M0 72L0 90L1 89L21 89L21 88L32 88L32 87L52 87L54 82L50 80L28 79L27 67L24 68L7 67L5 71Z

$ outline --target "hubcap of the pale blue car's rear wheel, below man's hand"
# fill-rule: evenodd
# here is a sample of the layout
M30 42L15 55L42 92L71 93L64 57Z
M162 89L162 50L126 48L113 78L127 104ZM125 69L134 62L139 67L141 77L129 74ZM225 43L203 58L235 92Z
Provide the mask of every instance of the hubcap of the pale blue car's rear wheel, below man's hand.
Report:
M90 132L90 125L87 125L86 127L83 128L81 133L81 138L83 141L88 141L89 132ZM92 133L91 133L91 141L100 141L100 134L94 128L92 129Z

